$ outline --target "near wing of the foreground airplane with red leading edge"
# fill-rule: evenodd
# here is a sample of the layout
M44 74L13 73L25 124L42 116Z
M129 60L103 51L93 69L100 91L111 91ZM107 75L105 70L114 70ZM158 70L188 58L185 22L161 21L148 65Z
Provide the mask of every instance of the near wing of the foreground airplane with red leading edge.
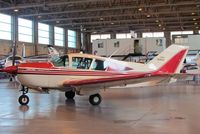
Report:
M115 86L126 86L131 84L133 87L141 86L154 86L158 84L168 83L172 75L159 74L154 76L148 76L145 73L136 75L119 75L113 77L84 79L84 80L67 80L64 81L63 86L76 87L78 90L93 90L93 89L106 89Z

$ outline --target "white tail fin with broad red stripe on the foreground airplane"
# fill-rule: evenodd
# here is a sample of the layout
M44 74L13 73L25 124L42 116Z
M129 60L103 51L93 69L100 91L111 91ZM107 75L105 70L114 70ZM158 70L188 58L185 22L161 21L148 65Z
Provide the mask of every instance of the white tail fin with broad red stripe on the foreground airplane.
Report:
M180 73L188 48L173 44L151 60L147 66L162 73Z

